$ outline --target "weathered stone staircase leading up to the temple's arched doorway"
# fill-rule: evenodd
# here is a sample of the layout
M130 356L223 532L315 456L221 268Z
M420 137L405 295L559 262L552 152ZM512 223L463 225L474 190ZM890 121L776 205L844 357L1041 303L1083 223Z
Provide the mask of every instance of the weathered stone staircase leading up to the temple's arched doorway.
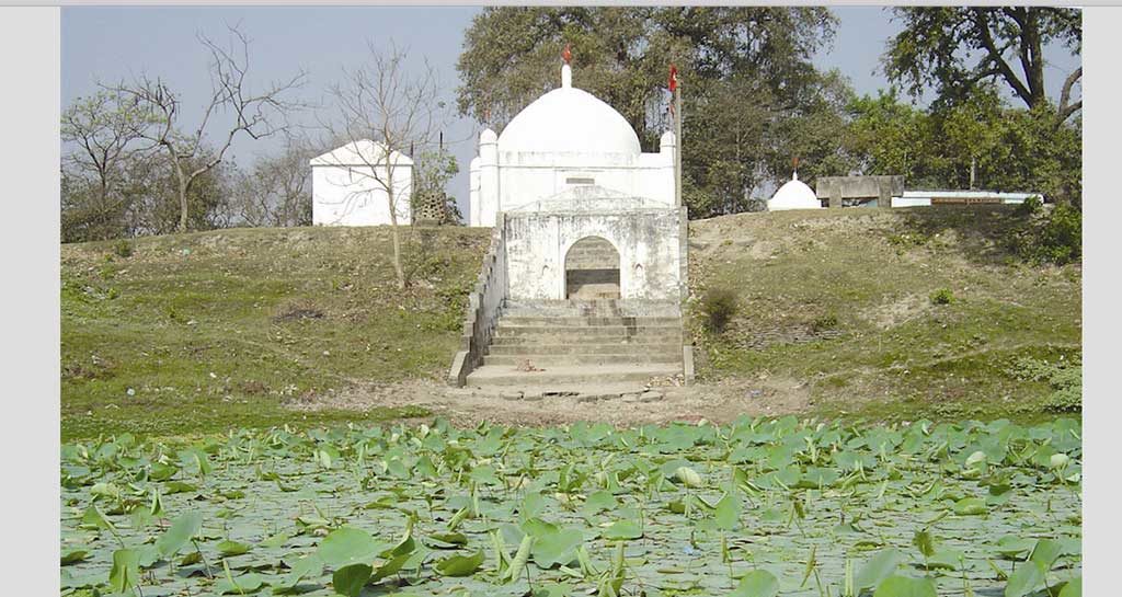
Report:
M482 366L467 376L467 386L557 391L597 384L641 386L683 373L677 303L507 301Z

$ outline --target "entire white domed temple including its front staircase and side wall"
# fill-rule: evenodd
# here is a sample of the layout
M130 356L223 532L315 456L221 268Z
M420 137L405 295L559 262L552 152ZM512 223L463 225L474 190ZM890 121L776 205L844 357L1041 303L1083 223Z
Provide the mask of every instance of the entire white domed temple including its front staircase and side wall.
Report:
M469 223L494 231L450 384L692 376L675 150L668 131L643 153L619 112L572 85L568 59L560 88L482 131Z

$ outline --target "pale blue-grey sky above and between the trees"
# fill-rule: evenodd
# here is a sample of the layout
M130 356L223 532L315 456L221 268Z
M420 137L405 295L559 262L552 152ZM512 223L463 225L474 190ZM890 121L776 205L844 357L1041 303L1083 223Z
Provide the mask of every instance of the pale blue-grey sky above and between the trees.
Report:
M479 7L64 7L62 11L62 102L94 91L95 81L113 82L134 74L159 75L181 90L186 116L196 122L210 92L208 54L196 34L226 39L227 25L240 24L251 42L250 73L261 83L285 79L297 70L307 73L300 98L328 105L328 86L353 68L375 45L394 39L410 49L411 58L426 56L436 68L449 102L454 103L459 79L456 62L463 31ZM835 7L840 22L834 45L816 57L822 68L838 68L858 94L875 94L888 82L880 72L880 56L890 36L900 30L881 7ZM1046 76L1054 95L1078 58L1066 50L1049 52ZM312 111L300 120L315 125ZM217 130L217 129L215 129ZM467 213L468 163L475 157L477 126L466 119L450 123L445 140L460 165L449 192ZM233 158L242 167L256 156L276 151L278 141L239 138Z

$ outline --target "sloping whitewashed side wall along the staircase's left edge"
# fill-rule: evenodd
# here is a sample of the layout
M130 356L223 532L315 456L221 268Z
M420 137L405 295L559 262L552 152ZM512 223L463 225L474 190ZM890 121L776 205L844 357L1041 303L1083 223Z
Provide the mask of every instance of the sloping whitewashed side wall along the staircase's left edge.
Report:
M468 295L468 310L463 319L460 350L452 359L448 384L463 387L468 374L482 364L491 336L498 324L499 311L506 300L506 221L500 212L495 218L490 247L475 290Z

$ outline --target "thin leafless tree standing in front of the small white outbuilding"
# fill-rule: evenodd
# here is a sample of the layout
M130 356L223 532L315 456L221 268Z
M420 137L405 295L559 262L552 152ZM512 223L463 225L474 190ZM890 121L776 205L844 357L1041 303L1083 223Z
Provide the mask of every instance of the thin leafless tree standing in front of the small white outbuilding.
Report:
M448 122L449 112L441 101L435 70L427 59L419 68L406 66L407 52L390 42L388 50L380 52L367 43L370 58L365 66L344 71L343 81L331 88L339 111L339 121L328 125L337 138L344 139L358 160L358 168L350 168L359 181L353 193L369 195L369 187L386 195L389 210L390 233L394 245L394 272L397 286L405 287L402 268L402 245L398 233L398 212L407 202L397 196L397 177L394 172L401 155L423 150L434 145L440 129ZM338 164L353 166L355 164Z

